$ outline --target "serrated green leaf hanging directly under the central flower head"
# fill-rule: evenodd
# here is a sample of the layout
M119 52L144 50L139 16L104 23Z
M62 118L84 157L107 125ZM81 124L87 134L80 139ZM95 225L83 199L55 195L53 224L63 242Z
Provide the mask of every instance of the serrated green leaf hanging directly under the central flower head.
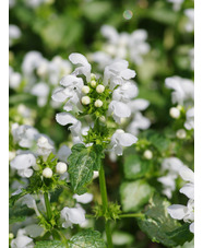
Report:
M77 194L86 191L86 185L93 179L96 153L84 144L75 144L68 158L71 187Z

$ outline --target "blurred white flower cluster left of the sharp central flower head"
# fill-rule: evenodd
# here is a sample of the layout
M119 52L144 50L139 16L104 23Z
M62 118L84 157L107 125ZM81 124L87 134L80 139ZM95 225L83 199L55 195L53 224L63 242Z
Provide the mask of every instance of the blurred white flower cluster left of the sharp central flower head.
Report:
M50 101L50 94L61 76L72 71L71 63L56 56L51 61L43 57L38 51L29 51L25 55L22 63L22 73L14 72L9 68L9 85L16 91L35 95L39 107L44 107ZM52 107L58 107L50 102Z

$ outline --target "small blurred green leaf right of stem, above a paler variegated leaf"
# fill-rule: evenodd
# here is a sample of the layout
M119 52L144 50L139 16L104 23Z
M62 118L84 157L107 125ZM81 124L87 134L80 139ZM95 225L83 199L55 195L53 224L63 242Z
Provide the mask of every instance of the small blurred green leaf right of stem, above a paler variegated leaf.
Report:
M127 179L138 179L146 175L151 168L151 163L141 160L138 155L129 155L124 160L123 167Z

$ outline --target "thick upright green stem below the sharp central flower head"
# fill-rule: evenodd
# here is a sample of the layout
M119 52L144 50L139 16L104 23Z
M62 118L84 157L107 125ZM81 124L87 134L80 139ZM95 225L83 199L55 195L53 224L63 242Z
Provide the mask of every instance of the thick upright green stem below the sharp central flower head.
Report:
M105 170L103 165L100 166L100 170L99 170L99 187L100 187L100 194L101 194L101 201L103 201L103 211L105 214L108 209L108 198L107 198L107 188L106 188L106 180L105 180ZM112 238L111 238L109 221L105 222L105 228L106 228L108 248L112 248Z

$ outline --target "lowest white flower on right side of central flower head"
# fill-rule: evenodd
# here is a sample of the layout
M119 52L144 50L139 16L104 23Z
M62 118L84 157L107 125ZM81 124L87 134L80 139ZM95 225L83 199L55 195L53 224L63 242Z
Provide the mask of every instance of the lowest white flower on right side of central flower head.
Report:
M122 146L131 146L136 143L138 138L132 135L131 133L127 133L121 129L117 129L117 131L112 134L110 146L115 153L120 156L122 155Z

